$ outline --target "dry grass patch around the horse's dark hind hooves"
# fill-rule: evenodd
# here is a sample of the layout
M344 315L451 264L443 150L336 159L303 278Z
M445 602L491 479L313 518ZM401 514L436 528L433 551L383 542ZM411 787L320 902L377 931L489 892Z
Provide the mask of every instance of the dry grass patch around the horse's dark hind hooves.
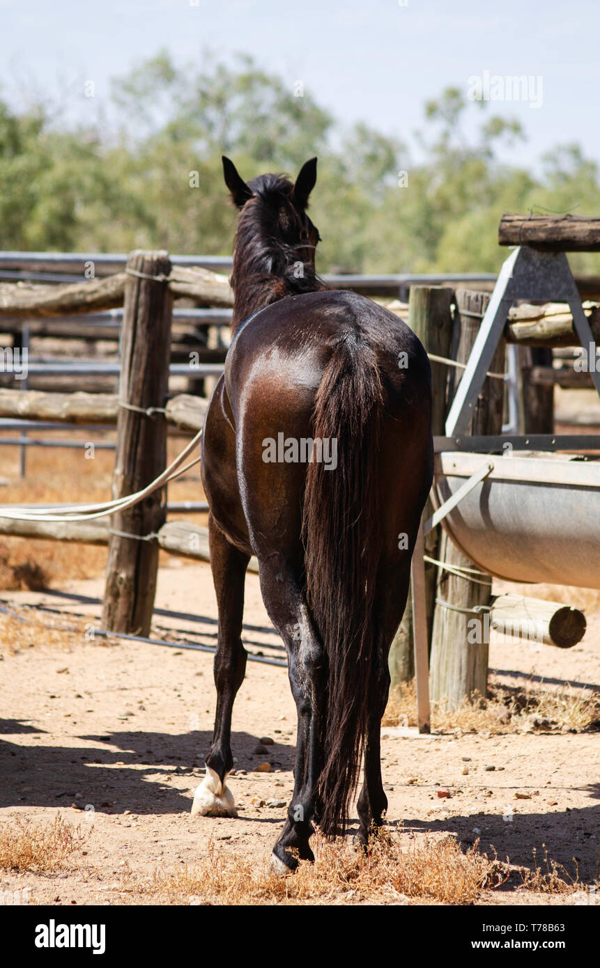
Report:
M300 862L294 876L279 877L211 843L199 866L145 880L128 875L125 890L174 904L471 904L508 877L506 865L477 845L462 853L452 837L409 839L384 829L366 855L347 841L315 839L315 862Z

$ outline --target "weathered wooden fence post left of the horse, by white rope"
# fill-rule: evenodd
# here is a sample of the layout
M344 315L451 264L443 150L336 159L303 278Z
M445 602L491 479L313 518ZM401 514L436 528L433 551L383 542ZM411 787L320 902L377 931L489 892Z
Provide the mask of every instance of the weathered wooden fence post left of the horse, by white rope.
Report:
M141 410L164 408L166 403L173 296L163 277L170 271L166 252L133 252L127 259L119 402L135 409L119 408L113 498L141 490L167 466L165 415ZM149 634L158 542L143 538L165 520L164 489L112 516L102 616L107 630Z

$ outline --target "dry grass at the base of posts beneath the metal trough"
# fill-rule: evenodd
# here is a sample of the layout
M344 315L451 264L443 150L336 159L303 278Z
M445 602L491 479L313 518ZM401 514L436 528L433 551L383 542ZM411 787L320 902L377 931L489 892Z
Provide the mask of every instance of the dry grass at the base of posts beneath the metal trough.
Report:
M432 728L440 732L461 731L490 735L543 731L583 733L600 723L600 692L574 689L564 683L556 688L528 682L526 686L491 683L486 699L475 696L457 710L434 704ZM383 718L384 726L417 726L415 683L396 689Z

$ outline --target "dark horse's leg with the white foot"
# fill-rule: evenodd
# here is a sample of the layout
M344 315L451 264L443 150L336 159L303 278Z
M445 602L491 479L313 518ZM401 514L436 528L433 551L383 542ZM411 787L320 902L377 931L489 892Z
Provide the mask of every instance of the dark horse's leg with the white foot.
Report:
M217 709L206 775L196 790L192 813L236 817L236 805L226 785L234 766L231 749L232 711L237 689L246 670L246 650L241 644L243 592L249 557L238 551L209 518L210 565L217 596L219 631L214 657Z

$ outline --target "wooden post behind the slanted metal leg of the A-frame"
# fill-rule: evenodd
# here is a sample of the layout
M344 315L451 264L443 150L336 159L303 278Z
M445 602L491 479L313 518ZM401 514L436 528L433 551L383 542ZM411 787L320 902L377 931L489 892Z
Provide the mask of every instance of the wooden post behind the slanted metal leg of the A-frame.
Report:
M466 363L481 324L483 311L481 299L478 299L480 296L481 293L457 289L457 332L454 342L455 345L458 344L458 363ZM504 372L504 340L500 340L490 372ZM459 378L460 371L458 375L455 371L454 387L458 385ZM452 400L449 399L449 404L451 403ZM500 434L503 405L504 382L488 377L474 408L468 433ZM458 551L445 532L440 541L439 560L455 567L473 568L472 561ZM491 578L476 574L471 581L441 567L439 569L436 598L448 605L438 604L435 608L430 655L430 690L432 701L445 702L451 710L456 709L465 698L476 691L482 696L487 694L487 625L484 624L482 614L478 616L471 610L475 605L489 604L490 590ZM472 624L474 619L481 621L479 634Z

